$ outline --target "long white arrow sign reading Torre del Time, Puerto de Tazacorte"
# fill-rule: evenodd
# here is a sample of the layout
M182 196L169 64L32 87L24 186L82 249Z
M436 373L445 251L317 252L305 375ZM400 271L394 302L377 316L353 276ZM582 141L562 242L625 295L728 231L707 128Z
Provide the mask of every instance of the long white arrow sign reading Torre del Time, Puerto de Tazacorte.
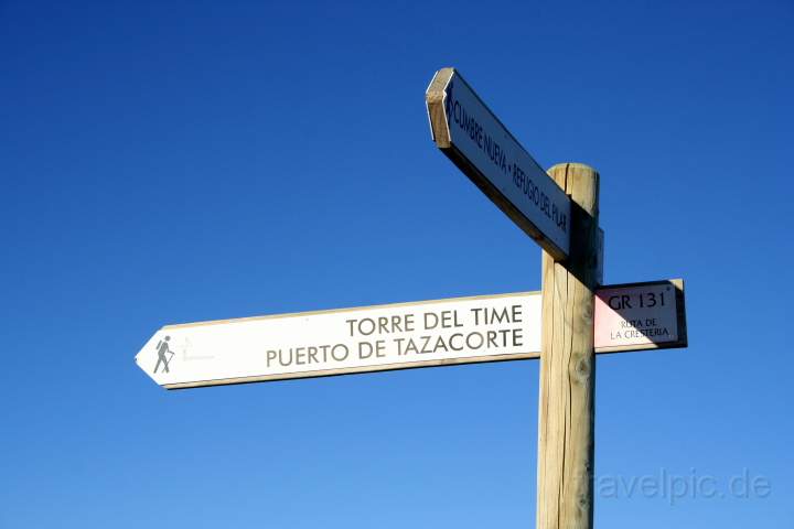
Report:
M540 294L169 325L136 356L168 389L537 358Z

